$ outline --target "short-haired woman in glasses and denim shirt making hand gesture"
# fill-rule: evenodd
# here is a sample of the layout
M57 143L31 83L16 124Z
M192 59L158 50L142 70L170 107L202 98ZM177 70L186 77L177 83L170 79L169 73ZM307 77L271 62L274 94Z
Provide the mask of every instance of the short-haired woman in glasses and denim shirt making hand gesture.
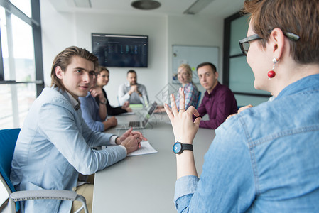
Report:
M250 22L240 48L254 87L274 100L215 130L198 178L199 114L183 109L183 88L179 111L171 95L172 109L165 108L176 142L175 205L178 212L319 212L318 0L246 0L244 12Z

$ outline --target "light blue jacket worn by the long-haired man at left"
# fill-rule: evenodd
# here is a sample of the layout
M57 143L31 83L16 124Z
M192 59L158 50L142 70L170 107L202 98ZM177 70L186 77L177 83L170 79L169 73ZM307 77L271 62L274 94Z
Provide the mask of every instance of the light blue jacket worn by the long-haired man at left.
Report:
M110 144L112 134L92 131L67 92L45 88L24 121L13 154L11 182L16 190L72 190L79 173L90 175L126 157ZM72 201L29 200L25 212L70 212Z

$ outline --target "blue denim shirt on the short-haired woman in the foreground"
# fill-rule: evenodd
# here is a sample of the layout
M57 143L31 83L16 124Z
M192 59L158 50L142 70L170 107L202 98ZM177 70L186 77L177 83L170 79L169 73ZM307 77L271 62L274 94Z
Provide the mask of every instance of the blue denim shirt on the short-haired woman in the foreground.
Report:
M310 75L225 121L200 179L176 181L178 212L319 212L318 106Z

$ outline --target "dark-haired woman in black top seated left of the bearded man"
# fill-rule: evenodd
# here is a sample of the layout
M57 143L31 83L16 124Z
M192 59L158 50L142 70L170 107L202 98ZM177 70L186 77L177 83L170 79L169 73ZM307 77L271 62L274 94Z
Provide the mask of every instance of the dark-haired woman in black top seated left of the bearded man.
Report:
M103 89L104 86L107 85L107 83L109 82L109 70L107 70L107 67L102 67L99 66L99 69L97 72L95 72L97 74L97 87L102 89L102 92L104 94L104 98L106 99L106 106L107 106L107 114L111 115L111 116L115 116L118 114L122 114L122 113L126 113L126 112L131 112L132 109L129 108L129 102L124 102L123 106L119 106L119 107L112 107L109 104L109 99L107 99L107 92L105 92L105 90ZM99 104L99 96L95 97L97 103Z

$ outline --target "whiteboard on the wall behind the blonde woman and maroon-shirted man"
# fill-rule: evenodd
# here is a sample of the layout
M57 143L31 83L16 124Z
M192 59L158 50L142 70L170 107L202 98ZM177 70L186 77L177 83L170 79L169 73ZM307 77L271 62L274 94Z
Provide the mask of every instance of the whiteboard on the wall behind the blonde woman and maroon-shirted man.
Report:
M193 71L193 82L200 84L196 67L202 62L211 62L218 71L218 48L207 46L173 45L173 84L180 84L177 69L181 64L188 64Z

